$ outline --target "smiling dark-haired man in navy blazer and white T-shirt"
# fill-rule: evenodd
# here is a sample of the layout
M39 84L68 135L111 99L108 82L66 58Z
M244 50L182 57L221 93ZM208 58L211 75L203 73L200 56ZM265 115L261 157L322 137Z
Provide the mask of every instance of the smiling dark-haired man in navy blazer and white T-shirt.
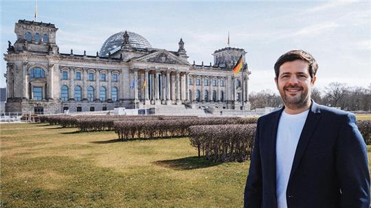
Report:
M311 100L317 68L306 51L278 58L284 108L258 119L245 207L370 206L368 153L355 115Z

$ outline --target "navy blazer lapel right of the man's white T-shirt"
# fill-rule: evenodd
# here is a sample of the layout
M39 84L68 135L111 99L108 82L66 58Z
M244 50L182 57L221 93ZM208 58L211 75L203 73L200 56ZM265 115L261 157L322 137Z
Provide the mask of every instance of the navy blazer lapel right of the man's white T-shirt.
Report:
M293 166L291 167L289 183L291 181L291 177L295 173L295 170L297 169L297 166L299 165L303 157L308 141L311 140L313 132L315 131L315 128L317 128L319 119L320 119L319 106L312 100L312 106L309 109L308 117L306 117L306 122L300 135L299 142L297 143L295 156L293 159Z

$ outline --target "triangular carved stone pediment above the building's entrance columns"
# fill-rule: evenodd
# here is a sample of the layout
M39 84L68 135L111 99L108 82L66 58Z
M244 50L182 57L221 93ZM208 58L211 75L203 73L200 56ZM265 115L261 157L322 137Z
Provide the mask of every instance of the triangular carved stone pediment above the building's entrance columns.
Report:
M178 56L170 53L166 50L156 51L152 54L135 58L134 61L140 62L152 62L152 63L161 63L161 64L170 64L170 65L189 65L186 60L182 60Z

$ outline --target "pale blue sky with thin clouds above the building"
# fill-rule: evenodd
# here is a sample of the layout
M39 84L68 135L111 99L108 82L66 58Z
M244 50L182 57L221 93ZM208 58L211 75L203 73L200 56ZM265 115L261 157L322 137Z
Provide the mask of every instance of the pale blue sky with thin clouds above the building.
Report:
M14 43L14 23L33 20L35 1L1 1L1 53ZM271 89L273 65L290 49L304 49L317 60L316 86L371 84L370 1L38 1L38 21L59 28L61 53L95 55L112 34L122 30L144 36L153 47L177 50L183 38L190 58L212 62L227 46L247 51L251 91ZM1 58L0 87L5 87Z

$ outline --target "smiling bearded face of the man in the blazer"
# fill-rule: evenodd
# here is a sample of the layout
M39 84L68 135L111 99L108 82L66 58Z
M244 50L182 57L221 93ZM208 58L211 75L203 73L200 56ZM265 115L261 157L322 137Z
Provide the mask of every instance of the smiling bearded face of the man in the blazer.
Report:
M308 68L305 60L284 62L280 66L275 81L286 108L297 110L310 104L315 77L311 79Z

